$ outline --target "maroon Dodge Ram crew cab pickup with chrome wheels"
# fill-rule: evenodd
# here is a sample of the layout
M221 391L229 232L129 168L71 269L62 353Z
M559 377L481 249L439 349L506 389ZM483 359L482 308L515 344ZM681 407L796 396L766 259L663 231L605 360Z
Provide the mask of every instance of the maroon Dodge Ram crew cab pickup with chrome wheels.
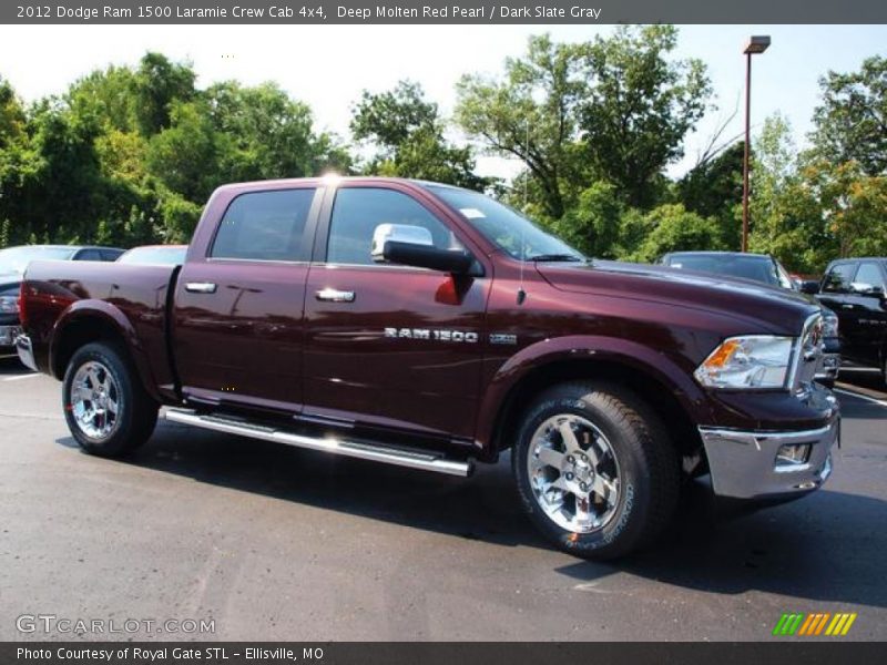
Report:
M613 557L717 495L818 488L838 439L819 308L591 260L481 194L390 178L226 185L181 266L32 263L19 354L84 450L167 420L468 475L510 451L530 520Z

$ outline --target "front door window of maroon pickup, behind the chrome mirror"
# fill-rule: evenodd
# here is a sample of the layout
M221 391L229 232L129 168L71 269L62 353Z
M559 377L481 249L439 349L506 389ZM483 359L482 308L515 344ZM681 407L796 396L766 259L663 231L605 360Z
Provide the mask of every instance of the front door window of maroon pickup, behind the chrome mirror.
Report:
M327 263L375 265L369 250L379 224L421 226L431 233L435 247L461 248L452 232L410 196L394 190L345 187L333 205Z

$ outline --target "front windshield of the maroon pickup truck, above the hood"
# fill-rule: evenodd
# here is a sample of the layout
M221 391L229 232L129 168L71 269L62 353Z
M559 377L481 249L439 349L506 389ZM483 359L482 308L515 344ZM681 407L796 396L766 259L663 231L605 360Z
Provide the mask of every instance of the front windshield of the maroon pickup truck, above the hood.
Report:
M430 185L428 188L512 258L585 260L580 252L489 196L456 187Z

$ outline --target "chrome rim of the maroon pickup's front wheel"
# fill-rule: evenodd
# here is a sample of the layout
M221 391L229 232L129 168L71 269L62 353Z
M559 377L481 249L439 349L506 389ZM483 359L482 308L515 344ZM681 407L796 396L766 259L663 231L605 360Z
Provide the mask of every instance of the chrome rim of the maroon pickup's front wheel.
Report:
M542 422L530 441L527 471L539 508L562 529L592 533L613 519L621 494L619 460L590 420L561 413Z

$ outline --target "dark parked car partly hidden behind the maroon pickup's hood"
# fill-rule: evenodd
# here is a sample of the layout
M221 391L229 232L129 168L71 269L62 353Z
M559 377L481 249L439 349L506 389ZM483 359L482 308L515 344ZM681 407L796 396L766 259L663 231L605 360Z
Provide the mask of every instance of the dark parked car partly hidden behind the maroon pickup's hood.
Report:
M802 283L793 279L782 264L768 254L741 252L672 252L660 263L673 268L714 273L728 277L750 279L774 288L804 291ZM812 296L809 296L812 299ZM835 385L840 368L840 339L838 316L823 306L823 362L816 372L816 380L829 388Z

